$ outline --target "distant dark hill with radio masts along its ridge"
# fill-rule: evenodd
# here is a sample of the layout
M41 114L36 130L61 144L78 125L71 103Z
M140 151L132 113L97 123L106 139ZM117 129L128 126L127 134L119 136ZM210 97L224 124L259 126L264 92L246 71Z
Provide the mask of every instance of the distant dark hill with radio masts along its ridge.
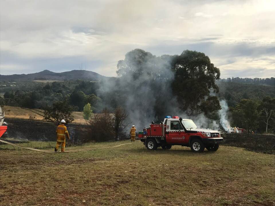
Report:
M108 77L102 76L96 72L87 70L72 70L70 72L51 72L44 70L33 74L12 74L12 75L0 75L1 82L21 82L21 81L33 81L33 80L88 80L98 81Z

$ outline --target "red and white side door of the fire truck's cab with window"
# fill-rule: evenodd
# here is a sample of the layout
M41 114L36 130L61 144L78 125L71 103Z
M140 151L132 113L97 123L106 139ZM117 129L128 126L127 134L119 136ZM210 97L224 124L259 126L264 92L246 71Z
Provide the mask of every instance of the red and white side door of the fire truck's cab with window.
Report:
M167 128L168 126L168 128ZM185 131L180 121L168 121L166 126L166 142L168 144L183 144L185 142Z

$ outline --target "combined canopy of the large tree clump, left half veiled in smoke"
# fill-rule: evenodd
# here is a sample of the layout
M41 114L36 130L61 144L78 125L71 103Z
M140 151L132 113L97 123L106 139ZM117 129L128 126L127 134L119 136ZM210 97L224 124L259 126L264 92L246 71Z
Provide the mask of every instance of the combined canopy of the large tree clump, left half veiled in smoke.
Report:
M117 74L117 87L128 99L124 105L144 111L146 118L160 121L167 114L206 114L221 108L218 98L210 96L219 91L215 80L220 71L201 52L156 57L135 49L118 62Z

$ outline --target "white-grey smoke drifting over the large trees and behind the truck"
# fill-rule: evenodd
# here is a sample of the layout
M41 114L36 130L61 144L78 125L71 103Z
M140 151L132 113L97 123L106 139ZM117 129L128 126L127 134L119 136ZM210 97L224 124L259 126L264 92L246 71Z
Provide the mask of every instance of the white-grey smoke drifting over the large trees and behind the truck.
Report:
M172 92L174 72L171 70L168 55L156 57L149 52L135 49L118 62L117 69L121 76L106 80L97 92L99 96L107 97L105 101L109 100L108 94L118 94L116 99L106 104L112 109L118 105L123 106L129 114L129 127L135 124L137 130L142 130L149 126L152 120L160 122L168 115L192 119L199 128L219 130L219 121L209 119L204 114L188 116L180 110L177 98ZM221 100L220 104L220 123L224 130L228 131L228 106L225 100Z

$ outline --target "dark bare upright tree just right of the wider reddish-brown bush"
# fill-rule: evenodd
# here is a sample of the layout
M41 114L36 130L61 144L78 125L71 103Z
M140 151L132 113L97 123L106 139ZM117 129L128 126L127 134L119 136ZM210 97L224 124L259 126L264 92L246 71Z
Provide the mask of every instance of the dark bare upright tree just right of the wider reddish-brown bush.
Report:
M121 135L125 128L129 125L129 123L126 122L127 117L128 114L126 110L121 107L117 107L115 109L113 117L113 129L116 141L118 140L119 135Z

